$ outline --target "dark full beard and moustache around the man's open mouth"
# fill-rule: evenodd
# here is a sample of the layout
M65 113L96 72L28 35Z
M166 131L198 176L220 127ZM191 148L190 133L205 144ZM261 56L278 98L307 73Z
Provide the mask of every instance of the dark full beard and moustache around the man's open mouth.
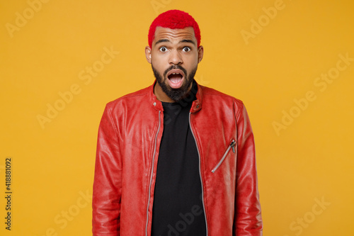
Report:
M185 98L185 96L187 96L189 94L189 90L190 90L190 84L192 84L195 73L197 72L197 67L195 67L194 69L192 69L192 71L190 72L190 74L187 74L187 71L179 66L179 65L175 65L175 66L171 66L168 69L165 70L164 75L161 76L161 74L159 74L159 72L157 72L157 70L154 68L154 66L152 65L152 71L154 72L154 76L156 78L156 81L159 83L159 85L161 86L162 91L164 91L164 93L169 96L170 99L172 99L173 101L181 101L183 98ZM185 82L183 83L183 85L181 86L181 88L178 89L172 89L171 86L169 86L169 84L166 83L166 79L169 79L166 77L166 74L171 70L171 69L181 69L185 75Z

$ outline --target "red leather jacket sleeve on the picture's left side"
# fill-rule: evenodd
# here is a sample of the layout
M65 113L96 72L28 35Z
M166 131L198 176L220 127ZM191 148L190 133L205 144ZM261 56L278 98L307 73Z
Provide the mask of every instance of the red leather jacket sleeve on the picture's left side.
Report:
M122 164L118 128L105 107L98 129L95 176L93 180L93 236L120 235Z

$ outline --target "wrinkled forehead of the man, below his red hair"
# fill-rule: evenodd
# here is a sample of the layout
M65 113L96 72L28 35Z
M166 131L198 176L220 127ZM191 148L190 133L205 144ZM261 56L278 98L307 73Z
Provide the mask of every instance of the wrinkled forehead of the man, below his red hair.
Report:
M186 28L164 28L161 26L157 26L155 30L154 41L161 39L173 39L178 38L179 40L193 40L195 44L197 43L197 39L195 38L195 33L193 27Z

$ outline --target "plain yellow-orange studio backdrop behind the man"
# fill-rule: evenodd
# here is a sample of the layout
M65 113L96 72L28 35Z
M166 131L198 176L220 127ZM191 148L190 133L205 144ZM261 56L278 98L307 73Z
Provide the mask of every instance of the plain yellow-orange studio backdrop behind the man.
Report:
M264 235L354 235L353 1L39 2L0 4L0 235L91 235L103 108L152 84L147 32L169 9L188 11L200 25L205 55L198 82L246 104ZM270 18L265 11L275 6ZM253 36L244 38L246 31ZM111 60L102 68L105 50L115 55L104 57ZM338 62L339 55L352 61ZM324 81L316 86L321 74L336 73L337 62L336 78L326 89ZM87 76L93 65L101 71L82 80L79 73ZM59 93L73 84L76 94L63 105ZM316 99L296 108L294 100L304 102L307 91ZM62 111L42 127L38 115L47 117L56 102ZM291 122L283 118L290 111ZM273 125L282 119L287 125L277 131ZM4 224L6 157L12 158L11 232Z

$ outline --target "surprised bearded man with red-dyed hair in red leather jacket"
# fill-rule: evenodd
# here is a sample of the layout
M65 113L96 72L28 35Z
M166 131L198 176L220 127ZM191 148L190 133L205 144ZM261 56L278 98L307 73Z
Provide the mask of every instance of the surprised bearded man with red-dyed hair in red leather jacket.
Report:
M108 103L100 123L93 235L262 235L249 118L195 82L203 52L188 13L150 26L156 82Z

